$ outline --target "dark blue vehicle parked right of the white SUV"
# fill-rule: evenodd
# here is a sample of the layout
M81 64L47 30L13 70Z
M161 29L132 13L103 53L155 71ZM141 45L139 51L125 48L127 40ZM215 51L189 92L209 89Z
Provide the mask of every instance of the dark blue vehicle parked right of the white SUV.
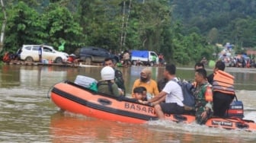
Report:
M116 62L119 62L119 58L116 55L110 54L107 49L98 48L94 46L87 46L80 49L79 58L83 62L104 62L106 58L113 58Z

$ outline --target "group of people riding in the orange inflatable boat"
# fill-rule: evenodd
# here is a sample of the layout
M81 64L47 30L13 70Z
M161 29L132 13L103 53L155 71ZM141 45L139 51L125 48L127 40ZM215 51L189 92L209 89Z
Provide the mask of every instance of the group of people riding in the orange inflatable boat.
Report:
M191 110L196 116L197 123L204 124L211 116L225 116L234 94L214 90L214 76L216 71L224 71L225 64L216 62L213 74L207 77L203 63L194 66L194 97L195 106ZM164 78L158 82L152 79L150 68L143 68L140 78L133 84L132 97L125 97L126 89L122 72L115 68L113 59L105 59L101 70L101 81L98 82L98 91L110 94L120 100L129 100L142 104L149 104L155 108L159 119L165 119L165 114L183 114L186 107L181 85L176 77L176 67L173 64L165 65ZM161 86L159 86L161 84Z

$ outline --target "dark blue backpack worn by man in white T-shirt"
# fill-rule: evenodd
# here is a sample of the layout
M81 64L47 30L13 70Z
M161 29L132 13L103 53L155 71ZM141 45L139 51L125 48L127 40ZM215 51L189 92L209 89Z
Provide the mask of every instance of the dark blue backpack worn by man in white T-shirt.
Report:
M180 86L183 94L185 109L192 110L196 104L194 97L194 86L188 81L176 81Z

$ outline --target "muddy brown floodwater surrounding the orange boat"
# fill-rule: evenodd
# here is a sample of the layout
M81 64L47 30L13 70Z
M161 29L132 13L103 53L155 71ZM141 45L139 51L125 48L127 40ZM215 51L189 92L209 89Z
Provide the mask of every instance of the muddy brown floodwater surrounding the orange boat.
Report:
M119 68L127 93L142 67ZM101 67L0 66L0 142L255 142L255 132L213 129L197 124L150 121L129 124L94 119L60 111L48 98L59 81L76 75L100 78ZM152 78L162 78L164 68L152 68ZM207 69L210 73L212 69ZM238 100L245 119L256 122L256 69L227 68L235 76ZM193 81L192 68L178 68L178 77Z

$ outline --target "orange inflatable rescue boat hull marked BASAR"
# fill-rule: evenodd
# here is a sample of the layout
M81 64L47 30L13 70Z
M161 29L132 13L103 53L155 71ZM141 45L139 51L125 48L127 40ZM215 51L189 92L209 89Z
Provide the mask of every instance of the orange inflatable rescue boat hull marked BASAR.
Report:
M50 98L62 110L98 119L130 123L146 123L158 119L152 106L117 100L110 95L92 91L72 81L55 84L50 89ZM195 116L165 114L165 119L192 123L195 121ZM206 122L206 126L256 130L256 124L253 121L237 118L211 118Z

